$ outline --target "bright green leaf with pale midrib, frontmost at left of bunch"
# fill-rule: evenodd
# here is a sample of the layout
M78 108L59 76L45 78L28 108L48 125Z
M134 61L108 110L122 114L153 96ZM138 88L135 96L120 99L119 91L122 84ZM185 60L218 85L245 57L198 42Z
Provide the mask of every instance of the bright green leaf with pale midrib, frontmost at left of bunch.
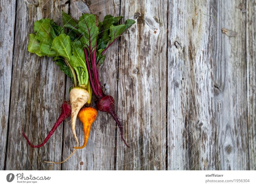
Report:
M52 41L52 50L54 50L58 56L62 56L70 61L72 56L70 37L66 34L60 34Z

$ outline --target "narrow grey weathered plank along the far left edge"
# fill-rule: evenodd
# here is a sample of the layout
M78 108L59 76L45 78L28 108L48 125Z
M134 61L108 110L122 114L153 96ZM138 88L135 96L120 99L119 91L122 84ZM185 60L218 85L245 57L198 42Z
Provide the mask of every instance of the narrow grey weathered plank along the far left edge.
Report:
M16 1L8 4L0 2L0 170L4 170L4 157L7 145L7 129L9 121L9 107L12 82L12 56L14 43Z

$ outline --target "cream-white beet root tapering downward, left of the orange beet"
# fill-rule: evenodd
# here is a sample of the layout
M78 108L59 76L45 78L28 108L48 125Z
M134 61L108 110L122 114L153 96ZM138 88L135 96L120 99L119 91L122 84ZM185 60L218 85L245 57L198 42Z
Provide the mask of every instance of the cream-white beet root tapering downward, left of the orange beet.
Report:
M76 136L76 117L80 109L88 101L89 97L89 92L82 87L74 87L69 92L69 102L71 105L71 128L77 146L79 146L79 141Z

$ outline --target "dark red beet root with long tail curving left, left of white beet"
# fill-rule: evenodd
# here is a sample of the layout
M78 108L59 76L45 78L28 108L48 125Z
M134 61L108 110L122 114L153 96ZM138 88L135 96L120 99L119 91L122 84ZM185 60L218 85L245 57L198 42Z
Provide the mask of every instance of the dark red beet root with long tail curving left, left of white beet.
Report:
M62 121L64 121L65 119L67 119L68 117L70 117L71 115L71 106L68 103L68 101L64 101L62 106L62 111L61 114L59 116L59 118L57 119L56 123L54 123L54 126L52 127L51 131L49 132L49 134L46 136L46 138L44 139L43 143L41 143L40 145L33 145L31 144L31 142L28 140L28 137L25 135L24 130L22 128L22 135L25 137L25 139L27 140L28 144L32 147L32 148L38 148L38 147L42 147L44 146L44 144L49 140L49 138L53 135L54 131L58 128L58 126L62 123Z

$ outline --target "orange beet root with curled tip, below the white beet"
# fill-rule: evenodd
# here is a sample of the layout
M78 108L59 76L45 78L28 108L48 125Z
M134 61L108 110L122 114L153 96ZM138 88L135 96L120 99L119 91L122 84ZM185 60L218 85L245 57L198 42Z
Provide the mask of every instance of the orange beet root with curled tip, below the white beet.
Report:
M84 144L81 147L74 147L74 148L82 149L86 146L87 141L89 139L92 123L97 117L97 110L92 107L85 107L78 112L77 116L84 126Z

